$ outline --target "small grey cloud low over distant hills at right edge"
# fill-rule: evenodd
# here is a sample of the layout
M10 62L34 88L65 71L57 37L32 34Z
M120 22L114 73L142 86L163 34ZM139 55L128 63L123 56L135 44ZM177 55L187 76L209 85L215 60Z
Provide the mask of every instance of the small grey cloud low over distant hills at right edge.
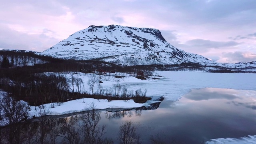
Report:
M246 52L228 52L223 53L222 56L227 58L228 61L236 62L252 62L256 60L256 54L248 54Z

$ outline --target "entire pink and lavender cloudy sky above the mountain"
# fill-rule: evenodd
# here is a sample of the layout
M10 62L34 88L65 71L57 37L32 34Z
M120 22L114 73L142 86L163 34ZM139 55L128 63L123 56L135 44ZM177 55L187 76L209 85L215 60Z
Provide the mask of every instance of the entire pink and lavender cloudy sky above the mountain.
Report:
M42 52L90 25L157 28L217 62L256 61L256 0L0 0L0 48Z

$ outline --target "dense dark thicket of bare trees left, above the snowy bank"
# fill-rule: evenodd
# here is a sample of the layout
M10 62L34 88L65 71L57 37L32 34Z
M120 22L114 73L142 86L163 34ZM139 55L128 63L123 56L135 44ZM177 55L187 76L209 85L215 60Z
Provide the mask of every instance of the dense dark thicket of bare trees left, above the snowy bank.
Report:
M2 78L1 89L17 100L32 106L51 102L66 102L70 99L68 80L63 75L36 73L29 76Z

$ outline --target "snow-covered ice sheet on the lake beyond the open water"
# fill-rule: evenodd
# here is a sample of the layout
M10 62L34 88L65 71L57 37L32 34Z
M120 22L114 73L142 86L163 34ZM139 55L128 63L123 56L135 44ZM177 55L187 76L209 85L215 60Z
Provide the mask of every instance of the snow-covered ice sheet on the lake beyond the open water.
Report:
M120 84L148 89L147 96L164 96L165 100L176 101L192 89L231 88L256 90L256 74L208 73L208 72L157 72L160 80L130 82L120 80Z

